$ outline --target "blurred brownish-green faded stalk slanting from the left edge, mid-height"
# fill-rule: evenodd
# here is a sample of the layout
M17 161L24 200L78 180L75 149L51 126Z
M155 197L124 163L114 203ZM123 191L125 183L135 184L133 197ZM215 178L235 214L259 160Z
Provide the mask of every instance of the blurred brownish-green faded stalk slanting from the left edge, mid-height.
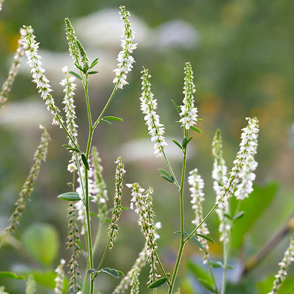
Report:
M11 231L15 231L16 225L19 224L20 217L22 216L22 214L25 210L25 207L26 207L26 202L27 202L27 200L30 200L30 195L34 190L34 184L35 184L35 181L38 177L42 160L46 161L46 155L47 155L48 143L50 140L50 136L49 136L47 130L45 129L45 127L40 125L40 129L43 130L43 134L41 135L40 145L38 146L38 148L34 154L35 163L31 167L28 178L22 187L22 190L20 192L20 198L16 202L17 207L10 217L10 221L11 221L10 225L5 229L6 233L0 242L0 248L3 246L8 234Z

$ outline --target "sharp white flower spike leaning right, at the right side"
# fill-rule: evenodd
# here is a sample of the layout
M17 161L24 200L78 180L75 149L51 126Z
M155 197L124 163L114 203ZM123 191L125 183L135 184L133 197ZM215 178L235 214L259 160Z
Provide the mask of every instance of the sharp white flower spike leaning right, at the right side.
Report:
M231 170L230 177L227 184L221 187L221 196L218 202L222 201L224 204L227 201L229 193L233 192L234 185L239 182L239 179L243 177L245 166L248 164L248 160L252 158L254 152L255 140L257 139L257 133L259 129L256 128L257 121L247 117L248 126L242 129L240 151L237 153L237 158L233 161L234 166Z

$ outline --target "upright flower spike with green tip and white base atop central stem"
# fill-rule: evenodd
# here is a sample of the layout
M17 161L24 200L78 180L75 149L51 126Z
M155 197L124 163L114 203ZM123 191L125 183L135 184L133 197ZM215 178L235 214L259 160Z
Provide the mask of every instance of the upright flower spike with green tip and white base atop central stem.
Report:
M185 98L183 100L184 105L180 106L182 112L180 115L182 116L182 119L180 122L185 126L187 130L190 129L191 126L196 124L197 122L197 107L194 106L194 96L193 93L196 92L195 85L193 83L193 72L191 64L188 62L186 63L185 68L185 86L184 86L184 94Z

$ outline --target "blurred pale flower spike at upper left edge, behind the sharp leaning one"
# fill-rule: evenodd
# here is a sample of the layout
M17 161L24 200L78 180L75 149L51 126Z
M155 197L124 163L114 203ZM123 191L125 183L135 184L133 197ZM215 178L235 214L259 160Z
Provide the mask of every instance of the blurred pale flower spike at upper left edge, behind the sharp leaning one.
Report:
M0 2L0 10L1 10L1 2ZM23 29L21 29L21 32L22 31L23 31ZM6 79L6 81L4 82L4 84L2 85L2 88L1 88L0 109L7 101L7 95L11 91L12 84L15 80L15 77L18 74L18 69L21 65L21 61L22 61L22 57L23 57L24 53L25 53L25 50L22 46L22 39L19 39L18 40L18 47L16 49L16 53L13 57L12 65L11 65L11 68L8 73L8 78Z

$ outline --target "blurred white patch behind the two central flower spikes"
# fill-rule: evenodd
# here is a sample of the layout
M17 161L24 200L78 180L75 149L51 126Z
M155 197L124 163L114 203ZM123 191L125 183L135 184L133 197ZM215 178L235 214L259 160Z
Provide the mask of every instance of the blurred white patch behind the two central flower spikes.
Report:
M168 146L164 148L166 156L170 160L183 160L183 151L175 145L171 139L182 143L182 139L180 138L165 138L165 141L168 144ZM190 158L192 154L195 154L195 147L192 142L189 143L187 149L187 157ZM150 138L134 139L124 143L121 147L120 154L122 154L124 162L158 160L156 154L154 154L154 142L151 142Z

